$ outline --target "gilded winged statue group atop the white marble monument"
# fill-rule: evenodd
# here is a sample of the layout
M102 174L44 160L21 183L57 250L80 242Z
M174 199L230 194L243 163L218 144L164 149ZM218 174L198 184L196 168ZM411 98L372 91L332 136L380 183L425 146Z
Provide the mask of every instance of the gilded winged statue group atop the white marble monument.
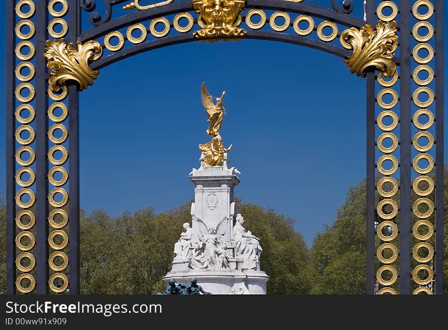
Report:
M222 117L226 111L222 106L222 98L225 94L226 92L223 91L221 97L216 97L216 104L214 104L213 98L208 92L205 83L202 83L202 104L204 105L208 116L207 121L210 123L206 133L212 137L212 141L199 145L199 149L201 149L204 154L204 167L221 166L222 160L224 159L224 153L232 148L232 145L230 145L229 148L224 148L221 136L219 135Z

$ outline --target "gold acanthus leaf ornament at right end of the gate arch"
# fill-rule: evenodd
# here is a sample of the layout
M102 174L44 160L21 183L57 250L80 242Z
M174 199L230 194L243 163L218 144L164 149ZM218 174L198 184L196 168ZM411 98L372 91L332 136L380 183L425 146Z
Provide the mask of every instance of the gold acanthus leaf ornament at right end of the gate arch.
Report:
M353 49L353 55L344 60L351 73L365 77L366 69L374 67L384 77L394 76L397 64L394 61L398 47L397 22L379 21L376 30L366 24L359 29L351 27L341 34L341 44Z

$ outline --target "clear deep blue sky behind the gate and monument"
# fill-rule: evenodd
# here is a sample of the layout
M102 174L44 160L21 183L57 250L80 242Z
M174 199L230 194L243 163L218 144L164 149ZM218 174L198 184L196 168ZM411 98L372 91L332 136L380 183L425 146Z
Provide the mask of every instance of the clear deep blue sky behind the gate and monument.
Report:
M329 0L313 3L330 7ZM355 5L361 17L362 0ZM337 56L285 43L188 43L102 69L80 93L81 208L117 216L151 205L162 212L193 197L188 173L200 166L198 144L209 141L203 81L213 95L227 92L221 136L233 144L231 166L242 173L235 194L294 218L311 245L347 189L365 178L366 83ZM4 129L2 111L2 155Z

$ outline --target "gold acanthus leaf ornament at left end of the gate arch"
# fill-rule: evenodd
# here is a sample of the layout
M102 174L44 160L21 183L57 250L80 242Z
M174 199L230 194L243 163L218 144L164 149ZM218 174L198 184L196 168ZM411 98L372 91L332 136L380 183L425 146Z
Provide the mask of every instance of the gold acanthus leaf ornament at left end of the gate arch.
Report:
M79 90L93 85L99 72L89 68L89 61L95 61L102 55L101 45L96 41L85 44L77 42L77 49L73 43L66 43L64 39L58 41L47 40L45 43L45 58L51 74L48 80L50 89L58 92L67 80L74 80L79 84Z

